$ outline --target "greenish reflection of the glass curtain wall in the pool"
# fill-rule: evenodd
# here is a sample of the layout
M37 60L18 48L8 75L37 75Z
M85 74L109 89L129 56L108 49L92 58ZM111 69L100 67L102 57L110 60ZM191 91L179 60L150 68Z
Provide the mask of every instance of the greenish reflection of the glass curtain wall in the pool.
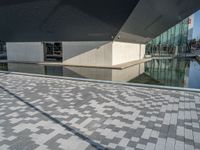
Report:
M189 61L177 59L154 59L145 64L145 73L161 84L186 87Z

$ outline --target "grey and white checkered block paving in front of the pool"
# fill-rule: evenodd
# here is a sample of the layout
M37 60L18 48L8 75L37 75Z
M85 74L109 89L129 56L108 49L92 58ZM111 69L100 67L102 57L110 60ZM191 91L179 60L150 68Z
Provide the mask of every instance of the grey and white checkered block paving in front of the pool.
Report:
M0 150L197 150L200 93L0 73Z

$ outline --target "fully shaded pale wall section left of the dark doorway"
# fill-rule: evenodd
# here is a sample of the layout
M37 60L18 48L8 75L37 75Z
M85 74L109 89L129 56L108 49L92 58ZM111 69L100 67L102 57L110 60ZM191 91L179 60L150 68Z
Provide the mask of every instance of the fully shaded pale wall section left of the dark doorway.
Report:
M41 42L8 42L7 57L9 61L43 62L44 52Z

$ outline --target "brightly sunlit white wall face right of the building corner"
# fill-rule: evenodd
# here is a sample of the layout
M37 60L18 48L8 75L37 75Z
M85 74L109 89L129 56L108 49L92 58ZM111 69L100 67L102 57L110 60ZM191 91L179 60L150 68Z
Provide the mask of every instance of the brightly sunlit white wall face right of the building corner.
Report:
M144 58L145 45L113 42L112 65L123 64Z

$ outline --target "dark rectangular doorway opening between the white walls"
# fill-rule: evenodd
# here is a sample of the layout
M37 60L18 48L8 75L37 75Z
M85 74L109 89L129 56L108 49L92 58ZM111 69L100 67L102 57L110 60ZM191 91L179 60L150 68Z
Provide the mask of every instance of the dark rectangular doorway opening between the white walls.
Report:
M62 62L62 43L61 42L45 42L44 43L44 60Z

